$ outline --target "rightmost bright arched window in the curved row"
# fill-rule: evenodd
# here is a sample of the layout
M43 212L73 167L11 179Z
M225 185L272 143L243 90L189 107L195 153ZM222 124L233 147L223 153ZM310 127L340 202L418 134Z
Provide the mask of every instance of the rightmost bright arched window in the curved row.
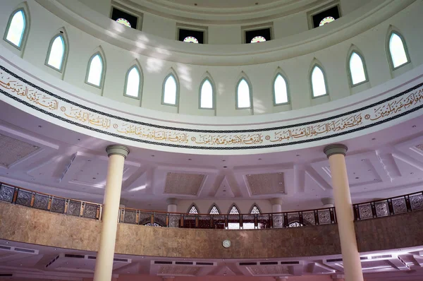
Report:
M407 52L407 44L400 32L391 31L388 40L388 59L393 69L399 68L410 62Z

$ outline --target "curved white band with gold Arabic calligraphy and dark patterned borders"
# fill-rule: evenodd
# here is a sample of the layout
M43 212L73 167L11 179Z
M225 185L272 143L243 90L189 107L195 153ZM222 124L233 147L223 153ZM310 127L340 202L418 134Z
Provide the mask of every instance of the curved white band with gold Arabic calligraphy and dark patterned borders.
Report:
M309 143L384 124L423 107L423 83L420 83L385 100L325 119L271 128L201 130L160 126L99 112L44 90L4 66L0 66L0 92L38 112L91 131L138 143L202 150L245 150Z

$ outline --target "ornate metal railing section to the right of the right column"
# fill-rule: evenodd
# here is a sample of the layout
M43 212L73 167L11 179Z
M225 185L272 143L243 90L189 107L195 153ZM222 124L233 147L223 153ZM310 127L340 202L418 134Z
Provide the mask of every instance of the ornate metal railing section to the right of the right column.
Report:
M354 204L354 220L367 220L423 210L423 192Z

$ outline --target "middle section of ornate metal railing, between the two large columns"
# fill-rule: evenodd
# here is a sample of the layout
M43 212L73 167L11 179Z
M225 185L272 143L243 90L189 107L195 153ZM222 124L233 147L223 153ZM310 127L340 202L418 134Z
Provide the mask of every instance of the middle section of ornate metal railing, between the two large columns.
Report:
M265 229L336 223L335 208L287 213L202 215L121 208L119 222L154 227Z

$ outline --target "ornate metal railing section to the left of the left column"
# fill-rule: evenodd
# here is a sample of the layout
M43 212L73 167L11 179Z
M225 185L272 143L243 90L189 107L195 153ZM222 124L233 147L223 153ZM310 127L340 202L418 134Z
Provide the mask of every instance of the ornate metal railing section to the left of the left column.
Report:
M0 201L94 220L99 220L102 214L101 204L51 196L3 183L0 183Z

